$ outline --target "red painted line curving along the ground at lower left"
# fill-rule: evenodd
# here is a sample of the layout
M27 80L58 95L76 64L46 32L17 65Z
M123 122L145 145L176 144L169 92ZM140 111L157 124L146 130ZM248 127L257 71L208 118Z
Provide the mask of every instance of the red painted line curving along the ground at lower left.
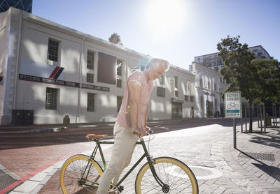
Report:
M83 151L87 151L88 149L86 150L83 150ZM69 156L72 156L73 154L78 154L80 152L83 152L83 151L77 151L75 153L72 153L72 154L68 154L66 156L62 156L61 158L58 158L56 159L55 161L52 161L51 163L48 163L46 165L43 165L43 167L40 167L38 168L37 170L34 170L33 172L27 174L25 177L22 177L20 179L18 179L18 181L15 181L13 184L10 184L9 186L7 186L6 188L3 188L1 191L0 191L0 194L5 194L7 191L10 191L10 189L12 188L15 188L15 186L18 186L19 184L21 184L23 181L26 181L27 179L29 179L30 177L33 177L35 174L37 174L38 172L41 172L42 170L45 170L47 167L50 167L51 165L53 165L54 163L57 163L58 161L61 161L62 159L64 158L67 158Z

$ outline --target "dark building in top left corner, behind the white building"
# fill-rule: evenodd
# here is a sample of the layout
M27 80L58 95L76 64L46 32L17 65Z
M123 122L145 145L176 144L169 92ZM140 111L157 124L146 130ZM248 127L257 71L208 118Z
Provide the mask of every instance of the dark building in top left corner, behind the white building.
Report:
M0 13L5 12L10 7L32 13L32 1L33 0L0 0Z

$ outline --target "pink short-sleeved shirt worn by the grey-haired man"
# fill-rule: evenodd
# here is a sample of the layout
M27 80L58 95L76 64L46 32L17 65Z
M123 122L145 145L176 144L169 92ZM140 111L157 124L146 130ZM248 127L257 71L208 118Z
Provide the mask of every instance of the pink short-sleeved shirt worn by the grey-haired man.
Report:
M138 103L138 127L143 128L142 122L144 119L148 101L150 100L150 96L153 90L153 82L147 82L144 73L141 71L134 71L125 82L125 94L123 96L123 103L120 107L120 111L118 112L117 123L120 124L120 126L132 128L130 119L130 91L128 89L128 84L130 82L136 82L141 86L140 98Z

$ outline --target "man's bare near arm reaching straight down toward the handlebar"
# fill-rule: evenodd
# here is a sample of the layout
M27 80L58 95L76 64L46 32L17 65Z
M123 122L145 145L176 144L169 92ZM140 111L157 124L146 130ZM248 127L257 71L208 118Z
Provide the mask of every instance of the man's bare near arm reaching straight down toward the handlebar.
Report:
M128 105L130 107L127 107L130 109L130 119L132 128L134 129L134 132L137 133L139 136L145 135L145 130L138 127L138 103L140 98L140 92L141 87L137 82L130 82L128 84L129 89L129 103Z

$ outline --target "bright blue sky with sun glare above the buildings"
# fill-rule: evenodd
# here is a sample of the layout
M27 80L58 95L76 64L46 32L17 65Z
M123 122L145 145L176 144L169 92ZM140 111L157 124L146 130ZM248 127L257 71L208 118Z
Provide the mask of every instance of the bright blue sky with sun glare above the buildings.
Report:
M188 70L194 57L240 36L280 61L279 0L33 0L32 14Z

